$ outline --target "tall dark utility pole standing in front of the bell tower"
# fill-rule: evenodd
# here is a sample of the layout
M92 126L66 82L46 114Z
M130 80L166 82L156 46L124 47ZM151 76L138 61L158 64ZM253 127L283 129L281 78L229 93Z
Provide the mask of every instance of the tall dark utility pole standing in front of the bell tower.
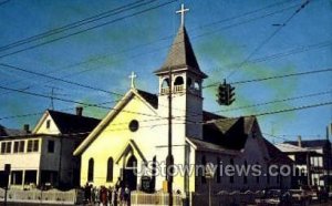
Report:
M166 158L166 176L167 176L167 192L169 195L169 206L173 206L173 154L172 154L172 69L168 69L168 155Z

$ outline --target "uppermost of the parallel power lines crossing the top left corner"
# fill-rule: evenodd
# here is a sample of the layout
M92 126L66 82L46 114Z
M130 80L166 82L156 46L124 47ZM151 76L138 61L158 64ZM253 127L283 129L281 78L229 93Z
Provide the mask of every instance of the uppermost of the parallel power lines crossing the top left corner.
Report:
M132 10L132 9L137 8L137 7L148 4L148 3L151 3L151 2L153 2L155 0L149 1L147 3L142 3L142 4L138 4L138 6L135 6L135 4L137 4L138 2L142 2L142 1L144 1L144 0L135 1L133 3L128 3L128 4L125 4L125 6L118 7L116 9L112 9L112 10L98 13L96 16L93 16L93 17L89 17L89 18L85 18L85 19L82 19L82 20L79 20L79 21L75 21L75 22L62 25L60 28L54 28L54 29L51 29L49 31L42 32L40 34L35 34L35 35L32 35L32 37L29 37L29 38L25 38L25 39L22 39L22 40L9 43L7 45L0 47L0 52L9 50L9 49L12 49L12 48L15 48L18 45L22 45L22 44L25 44L25 43L30 43L30 42L40 40L40 39L43 39L43 38L46 38L46 37L53 35L53 34L56 34L56 33L64 32L66 30L74 29L76 27L84 25L86 23L91 23L91 22L94 22L94 21L97 21L97 20L101 20L101 19L104 19L104 18L108 18L108 17L114 16L114 14L118 14L118 13L125 11L125 9L127 7L129 7L127 10ZM132 6L135 6L135 7L132 7Z

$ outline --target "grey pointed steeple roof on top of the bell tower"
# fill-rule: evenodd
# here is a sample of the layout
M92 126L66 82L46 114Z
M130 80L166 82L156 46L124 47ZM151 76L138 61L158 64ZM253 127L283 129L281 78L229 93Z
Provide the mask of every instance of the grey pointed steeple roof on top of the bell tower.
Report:
M172 71L188 70L203 78L207 78L199 69L185 27L179 28L165 63L155 73L167 73L169 69Z

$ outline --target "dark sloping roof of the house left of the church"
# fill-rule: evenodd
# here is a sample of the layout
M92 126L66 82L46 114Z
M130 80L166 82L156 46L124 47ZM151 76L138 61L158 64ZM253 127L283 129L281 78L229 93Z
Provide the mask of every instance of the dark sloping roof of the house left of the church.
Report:
M48 110L62 134L91 132L101 120Z

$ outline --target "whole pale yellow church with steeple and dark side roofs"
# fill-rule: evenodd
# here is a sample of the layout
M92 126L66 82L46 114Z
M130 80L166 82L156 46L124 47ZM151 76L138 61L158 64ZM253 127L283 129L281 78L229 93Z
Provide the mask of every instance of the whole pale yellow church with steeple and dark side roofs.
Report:
M183 12L183 11L181 11ZM232 175L220 173L222 165L284 163L260 132L255 116L227 119L203 109L203 82L208 78L195 56L184 23L159 70L158 93L132 87L74 151L81 155L81 185L114 186L120 178L131 189L163 189L168 154L168 93L172 91L173 190L188 195L205 193L207 177L199 165L218 165L211 181L212 193L290 186L289 177ZM133 76L134 78L134 76ZM181 168L190 168L181 171Z

